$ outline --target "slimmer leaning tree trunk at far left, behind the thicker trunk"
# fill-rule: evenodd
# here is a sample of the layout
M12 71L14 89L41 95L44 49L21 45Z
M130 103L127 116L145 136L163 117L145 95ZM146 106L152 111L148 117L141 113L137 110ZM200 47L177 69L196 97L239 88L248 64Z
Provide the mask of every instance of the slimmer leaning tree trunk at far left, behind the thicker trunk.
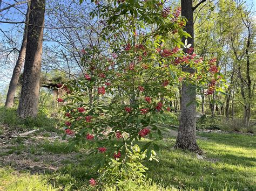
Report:
M29 12L30 12L30 10L29 10L29 3L28 3L28 9L26 11L26 19L25 19L26 23L29 22ZM8 93L7 93L6 100L5 100L5 105L4 106L6 108L11 108L11 107L14 106L15 91L16 91L16 88L18 86L19 74L21 74L21 70L22 70L23 63L24 63L24 60L25 60L25 55L26 55L26 40L27 40L27 37L28 37L28 25L25 24L21 49L19 50L18 60L17 60L16 65L14 67L14 71L12 72L11 81L10 81L10 84L9 84L9 89L8 89Z

